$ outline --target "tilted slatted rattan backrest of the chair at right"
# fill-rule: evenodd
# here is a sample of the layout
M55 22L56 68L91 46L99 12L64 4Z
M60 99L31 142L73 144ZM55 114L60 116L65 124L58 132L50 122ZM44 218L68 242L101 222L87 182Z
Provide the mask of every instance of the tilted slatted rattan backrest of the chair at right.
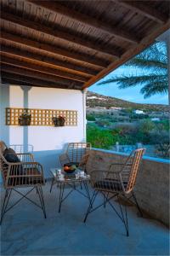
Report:
M121 177L122 182L126 184L125 192L130 192L136 182L137 173L139 171L139 165L142 160L142 156L145 152L145 148L135 149L132 154L127 158L125 165L122 168Z

